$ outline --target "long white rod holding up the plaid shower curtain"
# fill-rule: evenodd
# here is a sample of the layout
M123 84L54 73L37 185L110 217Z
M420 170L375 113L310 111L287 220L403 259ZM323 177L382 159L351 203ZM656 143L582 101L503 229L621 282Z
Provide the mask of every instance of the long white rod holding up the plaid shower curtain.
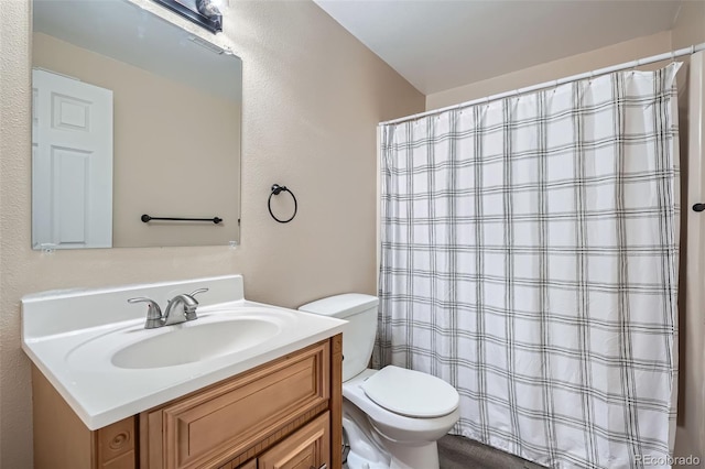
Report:
M641 65L653 64L654 62L668 61L669 58L681 57L683 55L692 55L692 54L695 54L696 52L701 52L701 51L705 51L705 42L701 43L701 44L697 44L697 45L692 45L690 47L679 48L677 51L665 52L663 54L652 55L651 57L638 58L636 61L626 62L623 64L612 65L611 67L605 67L605 68L599 68L597 70L587 72L587 73L584 73L584 74L572 75L570 77L558 78L558 79L555 79L555 80L552 80L552 81L544 81L544 83L541 83L539 85L533 85L533 86L529 86L529 87L525 87L525 88L519 88L519 89L514 89L512 91L505 91L505 92L500 92L500 94L497 94L497 95L488 96L486 98L473 99L470 101L460 102L459 105L453 105L453 106L448 106L446 108L434 109L434 110L431 110L431 111L419 112L419 113L413 114L413 116L406 116L406 117L399 118L399 119L388 120L388 121L384 121L384 122L380 122L377 126L378 127L379 126L387 126L387 124L390 124L390 123L399 123L399 122L405 122L405 121L409 121L409 120L421 119L421 118L424 118L424 117L427 117L427 116L440 114L442 112L449 111L449 110L453 110L453 109L459 109L459 108L465 108L467 106L477 105L478 102L487 102L487 101L492 101L492 100L496 100L496 99L507 98L509 96L518 96L518 95L523 95L523 94L530 92L530 91L538 91L540 89L551 88L551 87L555 87L555 86L563 85L563 84L571 83L571 81L577 81L578 79L583 79L583 78L593 78L593 77L596 77L598 75L611 74L612 72L619 72L619 70L623 70L626 68L633 68L633 67L639 67Z

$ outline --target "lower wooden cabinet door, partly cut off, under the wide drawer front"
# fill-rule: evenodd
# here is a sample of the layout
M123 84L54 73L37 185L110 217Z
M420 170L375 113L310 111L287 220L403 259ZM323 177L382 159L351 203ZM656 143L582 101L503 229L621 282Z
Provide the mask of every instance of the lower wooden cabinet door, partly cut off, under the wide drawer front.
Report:
M279 443L258 457L258 469L318 469L330 467L329 413Z

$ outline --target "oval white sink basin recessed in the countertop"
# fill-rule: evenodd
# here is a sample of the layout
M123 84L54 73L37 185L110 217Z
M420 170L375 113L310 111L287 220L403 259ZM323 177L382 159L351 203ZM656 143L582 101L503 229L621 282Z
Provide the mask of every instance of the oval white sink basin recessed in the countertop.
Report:
M189 327L191 326L191 327ZM237 318L184 324L118 350L110 360L118 368L162 368L209 360L262 343L281 331L273 320Z

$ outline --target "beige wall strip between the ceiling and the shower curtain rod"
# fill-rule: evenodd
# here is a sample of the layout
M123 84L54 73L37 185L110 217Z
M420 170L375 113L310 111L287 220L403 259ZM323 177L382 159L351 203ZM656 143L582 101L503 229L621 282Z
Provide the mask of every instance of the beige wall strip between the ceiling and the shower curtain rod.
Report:
M444 108L669 51L671 51L671 33L665 31L435 92L426 96L426 110Z

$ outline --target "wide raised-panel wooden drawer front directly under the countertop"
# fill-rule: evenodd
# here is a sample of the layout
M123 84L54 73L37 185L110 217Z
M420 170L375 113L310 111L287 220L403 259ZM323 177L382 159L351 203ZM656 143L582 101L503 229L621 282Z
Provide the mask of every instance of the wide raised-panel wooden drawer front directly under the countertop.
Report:
M145 425L140 430L141 467L219 468L307 413L327 406L329 349L328 341L318 342L149 411L140 417Z

